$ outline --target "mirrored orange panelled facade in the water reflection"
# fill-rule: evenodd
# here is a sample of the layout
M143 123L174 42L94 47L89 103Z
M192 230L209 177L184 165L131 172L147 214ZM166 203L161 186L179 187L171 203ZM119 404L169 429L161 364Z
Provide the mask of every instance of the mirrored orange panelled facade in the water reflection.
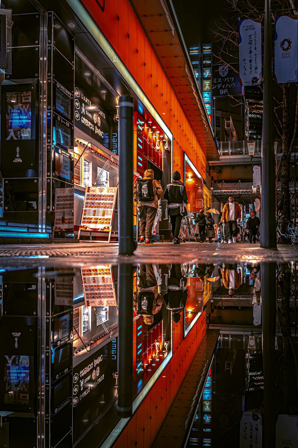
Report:
M173 322L173 356L151 391L123 429L113 448L150 448L206 334L206 312L183 338L183 323Z

